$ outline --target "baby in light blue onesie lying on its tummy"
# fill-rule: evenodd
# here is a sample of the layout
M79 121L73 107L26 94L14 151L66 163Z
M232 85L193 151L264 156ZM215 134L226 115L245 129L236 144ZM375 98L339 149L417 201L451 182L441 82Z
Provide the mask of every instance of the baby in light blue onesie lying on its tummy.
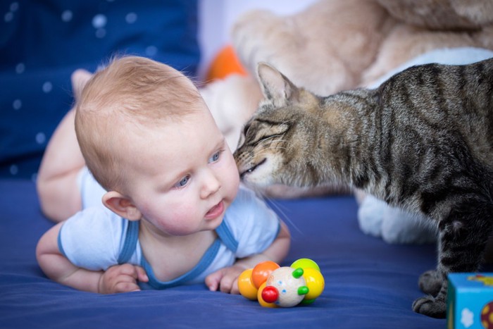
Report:
M187 77L127 56L77 98L75 119L65 116L39 170L43 211L79 210L37 244L49 278L100 293L204 282L238 293L244 269L285 258L285 223L239 185L231 151Z

